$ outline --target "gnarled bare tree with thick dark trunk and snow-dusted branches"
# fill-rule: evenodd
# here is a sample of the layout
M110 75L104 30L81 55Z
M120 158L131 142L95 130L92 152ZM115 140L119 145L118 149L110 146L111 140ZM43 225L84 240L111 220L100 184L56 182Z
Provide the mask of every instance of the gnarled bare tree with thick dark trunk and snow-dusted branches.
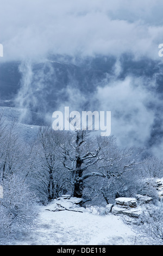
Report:
M62 164L71 173L73 196L82 197L84 181L92 176L104 177L104 174L95 168L101 159L96 136L89 137L86 131L76 130L67 137L66 143L58 144L63 157Z

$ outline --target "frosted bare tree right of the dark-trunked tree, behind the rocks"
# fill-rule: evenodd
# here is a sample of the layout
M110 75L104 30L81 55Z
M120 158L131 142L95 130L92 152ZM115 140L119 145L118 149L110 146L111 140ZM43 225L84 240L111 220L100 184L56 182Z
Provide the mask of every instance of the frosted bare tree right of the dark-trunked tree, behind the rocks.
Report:
M140 184L143 150L120 149L114 136L98 139L102 157L96 168L102 171L104 179L97 184L96 191L103 195L106 203L114 202L116 197L131 196L137 192L133 189L138 189L136 182Z

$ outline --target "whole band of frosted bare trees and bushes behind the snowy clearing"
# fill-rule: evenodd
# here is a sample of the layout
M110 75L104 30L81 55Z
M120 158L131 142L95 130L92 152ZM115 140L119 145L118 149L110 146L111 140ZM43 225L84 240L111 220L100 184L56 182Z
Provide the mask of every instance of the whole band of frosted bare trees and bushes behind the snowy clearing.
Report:
M2 244L4 237L36 227L37 205L48 205L64 194L83 198L82 206L103 206L136 194L150 196L151 212L140 220L148 230L149 223L156 227L159 222L154 235L163 240L163 204L154 185L163 176L162 160L141 148L120 148L115 136L103 137L95 131L40 126L34 139L24 140L17 123L8 123L3 113L0 131Z

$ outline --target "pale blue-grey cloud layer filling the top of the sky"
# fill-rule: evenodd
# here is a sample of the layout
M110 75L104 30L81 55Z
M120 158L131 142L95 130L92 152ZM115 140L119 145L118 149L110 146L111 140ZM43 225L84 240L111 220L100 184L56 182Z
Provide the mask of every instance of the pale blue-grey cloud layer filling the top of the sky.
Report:
M158 58L162 0L0 0L4 59L54 54Z

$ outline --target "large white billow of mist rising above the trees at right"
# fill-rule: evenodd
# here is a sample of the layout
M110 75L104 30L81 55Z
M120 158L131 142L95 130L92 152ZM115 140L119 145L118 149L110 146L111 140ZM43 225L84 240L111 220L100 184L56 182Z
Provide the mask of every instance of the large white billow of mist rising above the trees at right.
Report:
M97 88L99 108L111 111L111 133L123 147L143 147L151 137L155 113L149 105L156 97L144 83L143 78L127 76Z

